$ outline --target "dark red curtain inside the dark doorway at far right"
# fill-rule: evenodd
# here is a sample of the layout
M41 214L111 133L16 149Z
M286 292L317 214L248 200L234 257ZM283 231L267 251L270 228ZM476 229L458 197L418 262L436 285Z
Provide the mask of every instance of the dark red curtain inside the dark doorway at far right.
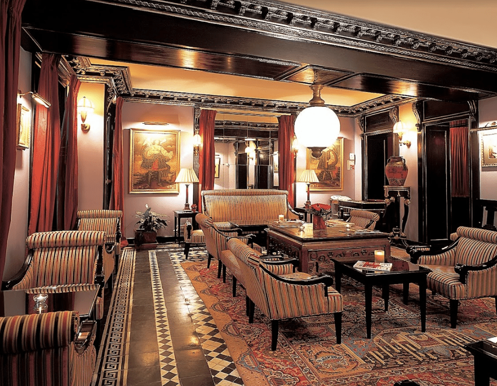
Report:
M452 197L469 197L469 133L466 120L450 123Z

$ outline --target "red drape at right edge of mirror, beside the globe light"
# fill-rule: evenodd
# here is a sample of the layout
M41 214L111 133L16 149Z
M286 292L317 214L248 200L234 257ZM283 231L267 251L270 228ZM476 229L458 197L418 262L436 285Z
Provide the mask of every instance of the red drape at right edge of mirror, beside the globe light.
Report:
M295 115L278 117L279 188L288 190L288 202L293 206L295 181L295 154L292 150Z

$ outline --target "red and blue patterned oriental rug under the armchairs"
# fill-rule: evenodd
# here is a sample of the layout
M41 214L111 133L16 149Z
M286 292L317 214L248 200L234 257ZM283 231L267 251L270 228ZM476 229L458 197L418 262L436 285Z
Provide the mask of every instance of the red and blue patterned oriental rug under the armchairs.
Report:
M270 351L269 320L256 309L248 323L245 293L239 287L238 296L231 296L232 283L217 279L215 262L210 269L205 261L181 265L247 386L392 386L406 379L422 386L473 386L473 356L463 346L497 335L492 299L461 302L458 326L451 329L448 300L430 293L422 333L418 287L411 285L408 305L402 287L391 286L388 312L380 290L373 291L373 338L366 339L361 285L344 278L342 344L336 344L333 316L323 315L280 322L277 350Z

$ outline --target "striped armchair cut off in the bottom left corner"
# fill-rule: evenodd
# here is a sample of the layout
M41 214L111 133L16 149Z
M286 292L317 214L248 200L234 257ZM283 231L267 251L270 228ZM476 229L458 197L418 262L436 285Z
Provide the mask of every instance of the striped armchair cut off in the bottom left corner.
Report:
M88 386L94 339L74 311L0 317L0 385Z

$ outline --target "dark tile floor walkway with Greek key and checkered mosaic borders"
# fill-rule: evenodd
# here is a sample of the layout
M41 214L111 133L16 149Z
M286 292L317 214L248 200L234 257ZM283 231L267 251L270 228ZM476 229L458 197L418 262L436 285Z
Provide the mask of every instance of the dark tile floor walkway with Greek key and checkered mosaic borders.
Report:
M188 260L207 260L205 248ZM177 244L124 249L92 386L243 385L182 261Z

